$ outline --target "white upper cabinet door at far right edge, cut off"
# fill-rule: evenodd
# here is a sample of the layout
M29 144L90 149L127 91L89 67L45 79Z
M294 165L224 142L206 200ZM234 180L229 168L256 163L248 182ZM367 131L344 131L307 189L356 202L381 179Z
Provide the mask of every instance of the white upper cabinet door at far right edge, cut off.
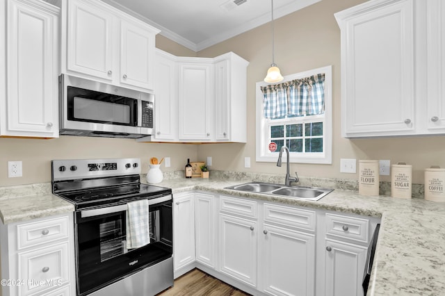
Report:
M428 131L445 132L445 3L427 1Z

